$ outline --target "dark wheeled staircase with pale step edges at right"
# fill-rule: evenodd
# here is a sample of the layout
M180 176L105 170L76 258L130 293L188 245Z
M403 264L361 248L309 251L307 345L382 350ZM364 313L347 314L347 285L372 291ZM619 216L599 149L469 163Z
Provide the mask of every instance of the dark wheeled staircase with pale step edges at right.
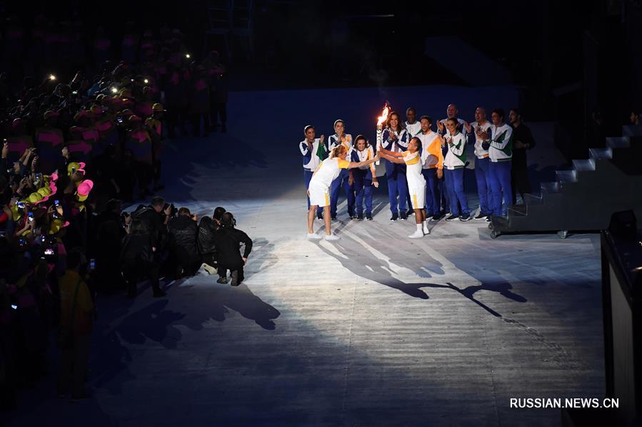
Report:
M523 232L597 231L608 227L613 212L633 210L642 217L642 132L624 126L621 137L606 138L606 148L591 148L589 158L573 160L571 170L556 171L542 182L539 195L508 207L488 228L499 235Z

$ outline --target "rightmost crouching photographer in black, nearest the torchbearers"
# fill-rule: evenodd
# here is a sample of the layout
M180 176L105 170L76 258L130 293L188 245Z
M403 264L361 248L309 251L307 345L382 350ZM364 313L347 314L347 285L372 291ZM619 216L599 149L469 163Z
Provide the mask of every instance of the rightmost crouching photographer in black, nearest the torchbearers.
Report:
M252 240L241 230L235 228L236 220L230 212L221 215L221 228L214 233L214 245L216 246L217 261L220 272L229 269L231 272L231 285L239 286L243 282L243 266L247 257L252 251ZM241 243L245 245L243 257L241 257Z

